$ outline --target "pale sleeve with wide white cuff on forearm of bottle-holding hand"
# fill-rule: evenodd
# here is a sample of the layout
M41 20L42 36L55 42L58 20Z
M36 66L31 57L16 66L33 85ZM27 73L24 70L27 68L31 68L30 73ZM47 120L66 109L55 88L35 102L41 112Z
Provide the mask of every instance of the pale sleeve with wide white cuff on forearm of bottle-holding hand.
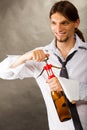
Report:
M58 78L64 92L70 102L83 100L87 101L87 84L80 83L77 80Z

